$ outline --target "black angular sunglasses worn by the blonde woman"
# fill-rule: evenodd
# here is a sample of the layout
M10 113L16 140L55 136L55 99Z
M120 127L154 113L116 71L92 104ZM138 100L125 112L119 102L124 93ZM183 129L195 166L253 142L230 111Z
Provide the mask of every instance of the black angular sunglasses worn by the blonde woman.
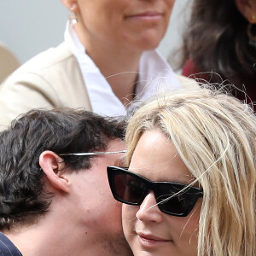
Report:
M113 197L127 205L140 206L149 190L153 190L161 212L186 217L195 207L196 201L203 196L203 189L181 183L152 182L127 171L128 168L108 166L107 170Z

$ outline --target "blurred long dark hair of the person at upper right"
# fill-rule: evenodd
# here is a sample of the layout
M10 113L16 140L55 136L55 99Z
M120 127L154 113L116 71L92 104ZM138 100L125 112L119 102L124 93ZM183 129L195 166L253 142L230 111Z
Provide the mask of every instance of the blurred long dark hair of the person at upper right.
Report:
M256 50L248 44L247 26L235 0L194 0L183 34L181 67L190 58L199 70L213 71L225 79L255 77Z

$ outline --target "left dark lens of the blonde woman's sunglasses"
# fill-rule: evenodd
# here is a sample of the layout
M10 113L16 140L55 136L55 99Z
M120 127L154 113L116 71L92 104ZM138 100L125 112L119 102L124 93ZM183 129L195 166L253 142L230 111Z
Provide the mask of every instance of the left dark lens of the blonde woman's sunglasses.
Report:
M138 205L147 195L147 187L137 177L129 174L117 173L114 176L115 193L121 201Z

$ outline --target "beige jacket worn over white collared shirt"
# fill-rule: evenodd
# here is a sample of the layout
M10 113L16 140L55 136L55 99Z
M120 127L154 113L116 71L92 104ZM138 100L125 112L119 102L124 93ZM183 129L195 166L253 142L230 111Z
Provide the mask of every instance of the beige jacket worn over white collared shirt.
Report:
M198 88L177 76L183 89ZM0 86L0 130L32 108L85 108L91 110L79 63L67 44L48 49L12 73Z

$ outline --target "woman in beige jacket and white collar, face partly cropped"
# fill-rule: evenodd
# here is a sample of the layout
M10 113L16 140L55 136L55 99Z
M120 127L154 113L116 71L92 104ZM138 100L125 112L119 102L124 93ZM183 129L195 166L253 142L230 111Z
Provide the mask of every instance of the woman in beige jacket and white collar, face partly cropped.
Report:
M27 61L2 84L2 125L35 107L122 115L135 96L147 98L162 82L169 90L196 85L177 77L155 50L174 0L61 2L72 12L65 42Z

